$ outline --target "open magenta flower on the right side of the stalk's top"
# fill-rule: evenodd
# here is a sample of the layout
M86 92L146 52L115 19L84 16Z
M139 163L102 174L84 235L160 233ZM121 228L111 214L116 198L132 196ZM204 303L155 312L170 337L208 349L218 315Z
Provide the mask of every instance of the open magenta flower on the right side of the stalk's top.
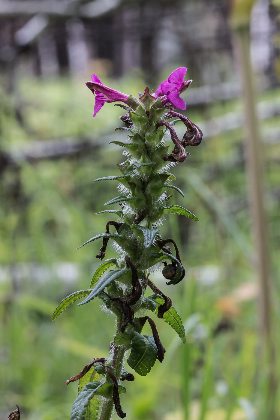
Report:
M180 98L180 94L190 86L192 80L184 81L187 67L179 67L172 71L167 80L161 82L154 94L155 98L161 97L164 105L170 102L179 109L186 109L187 106Z

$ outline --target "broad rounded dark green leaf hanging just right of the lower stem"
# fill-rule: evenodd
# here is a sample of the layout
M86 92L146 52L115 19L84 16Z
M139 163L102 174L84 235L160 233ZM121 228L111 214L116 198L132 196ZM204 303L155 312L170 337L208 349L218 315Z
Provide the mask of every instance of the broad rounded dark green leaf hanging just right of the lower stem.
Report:
M141 376L146 376L156 362L158 349L152 336L133 332L131 352L127 363Z

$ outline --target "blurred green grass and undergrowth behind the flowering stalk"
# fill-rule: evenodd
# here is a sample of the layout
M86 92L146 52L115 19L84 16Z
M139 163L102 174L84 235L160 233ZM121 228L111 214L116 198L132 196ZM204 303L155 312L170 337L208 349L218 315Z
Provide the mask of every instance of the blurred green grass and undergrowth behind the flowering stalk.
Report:
M102 81L134 95L145 87L140 79ZM279 93L266 92L259 99L273 99ZM240 106L239 100L216 102L185 114L197 122ZM65 157L18 158L1 173L0 417L4 420L15 404L23 420L68 419L77 384L66 386L64 381L92 357L105 356L114 334L114 320L100 312L95 300L79 308L72 305L49 322L67 294L90 284L100 243L76 248L104 231L108 217L95 213L116 196L117 187L114 182L93 181L118 175L116 164L124 160L106 138L121 125L120 109L105 104L93 120L93 107L92 93L81 81L22 79L9 97L2 88L1 153L16 156L31 142L50 139L96 142L90 150ZM181 133L180 124L175 129ZM278 124L279 117L262 121L262 131ZM266 392L266 372L258 362L258 286L250 257L243 131L205 139L191 152L172 171L185 198L174 192L170 204L182 205L200 222L170 215L161 229L163 238L172 231L180 244L187 275L176 287L166 286L160 272L152 275L185 321L187 344L180 344L175 332L158 322L166 348L164 362L157 362L148 377L136 375L121 403L133 420L254 420ZM278 344L280 143L264 144L262 154ZM108 247L106 257L112 256ZM276 405L280 415L278 400Z

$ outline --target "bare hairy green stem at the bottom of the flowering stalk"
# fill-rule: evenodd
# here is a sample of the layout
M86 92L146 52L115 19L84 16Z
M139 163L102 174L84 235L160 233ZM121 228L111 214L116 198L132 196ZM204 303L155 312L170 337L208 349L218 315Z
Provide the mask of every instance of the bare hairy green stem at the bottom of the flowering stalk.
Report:
M115 335L117 335L121 331L121 325L122 325L122 316L119 316L117 318ZM122 346L116 346L114 349L113 368L114 368L114 374L116 376L117 381L119 381L119 378L122 372L123 361L124 361L124 350L122 349ZM113 413L113 408L114 408L114 402L112 398L104 400L99 420L110 420Z

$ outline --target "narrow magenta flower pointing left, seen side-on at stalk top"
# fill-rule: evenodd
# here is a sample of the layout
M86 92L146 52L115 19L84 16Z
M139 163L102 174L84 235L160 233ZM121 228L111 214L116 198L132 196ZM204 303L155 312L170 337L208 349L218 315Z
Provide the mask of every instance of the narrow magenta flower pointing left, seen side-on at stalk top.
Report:
M94 114L93 117L100 111L105 102L124 102L127 103L128 95L125 95L122 92L111 89L110 87L105 86L101 83L100 79L95 74L91 75L92 81L87 81L87 87L95 95L95 105L94 105Z

